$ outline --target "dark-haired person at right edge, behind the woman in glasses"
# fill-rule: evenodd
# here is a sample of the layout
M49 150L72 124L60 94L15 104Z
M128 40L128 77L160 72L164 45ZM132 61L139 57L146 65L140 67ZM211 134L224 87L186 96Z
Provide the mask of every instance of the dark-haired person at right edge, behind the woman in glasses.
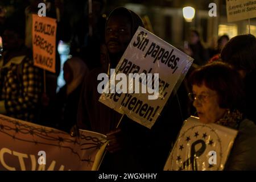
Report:
M254 35L237 35L221 51L221 59L231 64L243 77L246 93L246 117L256 123L256 38Z

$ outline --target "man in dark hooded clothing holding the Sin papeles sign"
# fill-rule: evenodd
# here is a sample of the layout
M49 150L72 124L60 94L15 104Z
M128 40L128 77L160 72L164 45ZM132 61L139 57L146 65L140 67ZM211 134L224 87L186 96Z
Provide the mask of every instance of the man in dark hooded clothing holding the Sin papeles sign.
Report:
M101 164L102 170L162 170L184 121L177 96L167 103L151 130L126 116L121 120L121 114L98 101L100 81L97 76L117 66L138 26L143 27L143 23L133 11L118 7L110 13L106 22L106 46L101 47L102 67L93 69L84 81L77 122L81 129L108 136L108 152Z

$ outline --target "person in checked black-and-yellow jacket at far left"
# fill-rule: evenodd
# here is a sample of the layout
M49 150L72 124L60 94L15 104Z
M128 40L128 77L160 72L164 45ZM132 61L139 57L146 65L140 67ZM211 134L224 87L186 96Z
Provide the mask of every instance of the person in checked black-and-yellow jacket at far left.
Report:
M6 19L3 57L0 61L0 113L35 122L42 92L42 72L34 66L24 46L24 21L19 15Z

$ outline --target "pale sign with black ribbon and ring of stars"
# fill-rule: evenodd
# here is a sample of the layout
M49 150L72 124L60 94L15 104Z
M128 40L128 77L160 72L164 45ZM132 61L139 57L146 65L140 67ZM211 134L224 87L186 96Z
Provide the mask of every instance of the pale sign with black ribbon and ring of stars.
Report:
M190 117L184 122L164 171L221 171L236 136L237 130Z

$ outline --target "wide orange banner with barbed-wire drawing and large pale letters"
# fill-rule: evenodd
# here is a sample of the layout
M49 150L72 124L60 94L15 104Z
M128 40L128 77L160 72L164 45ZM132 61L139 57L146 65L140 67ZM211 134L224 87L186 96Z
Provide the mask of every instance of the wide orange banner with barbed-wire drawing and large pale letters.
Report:
M106 136L81 130L80 137L0 115L0 170L97 170Z

